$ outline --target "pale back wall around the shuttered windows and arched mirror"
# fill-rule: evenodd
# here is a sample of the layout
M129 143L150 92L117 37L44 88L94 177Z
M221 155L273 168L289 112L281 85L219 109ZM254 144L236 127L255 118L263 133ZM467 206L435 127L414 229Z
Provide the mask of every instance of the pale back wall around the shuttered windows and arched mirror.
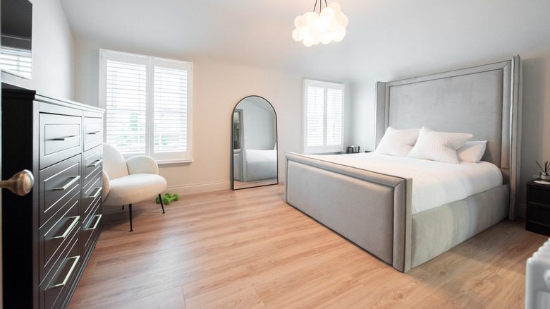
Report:
M75 38L77 102L99 105L100 48L149 54L145 50L104 46L101 42ZM167 191L190 194L230 188L231 116L235 105L248 95L264 97L275 109L279 176L284 176L284 152L300 151L304 75L185 55L153 56L193 62L193 162L160 166L161 176L168 181ZM327 79L326 76L317 78Z

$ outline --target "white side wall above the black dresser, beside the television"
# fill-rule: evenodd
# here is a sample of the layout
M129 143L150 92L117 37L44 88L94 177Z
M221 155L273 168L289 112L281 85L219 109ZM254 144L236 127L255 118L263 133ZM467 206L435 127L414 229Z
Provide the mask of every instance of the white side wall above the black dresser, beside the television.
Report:
M73 59L73 35L59 0L33 0L32 79L2 72L2 82L73 99Z

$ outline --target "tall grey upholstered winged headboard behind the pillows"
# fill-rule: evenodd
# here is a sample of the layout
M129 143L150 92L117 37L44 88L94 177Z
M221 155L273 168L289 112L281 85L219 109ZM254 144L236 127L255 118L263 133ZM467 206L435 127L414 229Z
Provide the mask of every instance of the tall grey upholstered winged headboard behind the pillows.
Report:
M445 73L377 83L376 145L389 126L427 126L472 133L487 140L483 160L501 168L510 183L510 219L515 219L520 180L521 61L491 63Z

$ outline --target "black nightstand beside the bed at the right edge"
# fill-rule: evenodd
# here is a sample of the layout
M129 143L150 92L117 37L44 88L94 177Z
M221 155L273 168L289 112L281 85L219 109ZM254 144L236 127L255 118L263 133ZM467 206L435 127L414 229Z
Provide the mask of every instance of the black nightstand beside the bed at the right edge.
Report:
M525 229L550 236L550 185L527 183Z

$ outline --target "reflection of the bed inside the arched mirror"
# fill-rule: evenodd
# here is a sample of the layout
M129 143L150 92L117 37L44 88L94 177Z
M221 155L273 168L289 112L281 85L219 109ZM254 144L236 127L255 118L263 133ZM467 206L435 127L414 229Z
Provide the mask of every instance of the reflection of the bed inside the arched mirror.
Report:
M235 180L246 182L277 177L277 150L233 150Z

